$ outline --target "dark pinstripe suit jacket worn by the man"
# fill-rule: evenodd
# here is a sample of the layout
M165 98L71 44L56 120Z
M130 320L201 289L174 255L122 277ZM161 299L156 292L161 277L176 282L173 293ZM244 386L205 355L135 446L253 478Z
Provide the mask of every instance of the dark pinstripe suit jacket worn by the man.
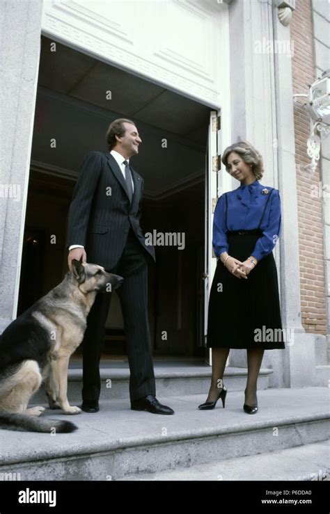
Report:
M155 250L146 246L140 226L143 178L132 167L130 170L134 182L132 204L116 159L110 153L90 152L81 166L70 204L67 247L84 246L87 261L107 270L120 259L129 227L155 260Z

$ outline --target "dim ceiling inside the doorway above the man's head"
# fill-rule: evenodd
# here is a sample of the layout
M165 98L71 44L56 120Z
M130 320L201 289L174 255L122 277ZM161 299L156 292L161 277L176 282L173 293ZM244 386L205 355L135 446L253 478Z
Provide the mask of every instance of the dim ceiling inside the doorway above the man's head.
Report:
M52 51L51 43L42 37L34 163L77 172L86 153L107 151L107 127L124 117L143 140L132 166L151 197L203 177L210 108L58 42Z

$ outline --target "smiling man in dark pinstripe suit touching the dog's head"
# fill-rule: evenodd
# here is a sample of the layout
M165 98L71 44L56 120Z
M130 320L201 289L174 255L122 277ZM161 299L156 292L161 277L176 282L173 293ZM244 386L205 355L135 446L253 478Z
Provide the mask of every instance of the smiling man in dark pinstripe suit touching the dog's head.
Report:
M72 259L93 262L121 275L117 290L122 307L129 362L132 410L173 414L155 398L155 375L147 314L147 259L155 250L146 245L140 226L143 179L130 166L141 138L131 120L114 120L107 131L110 152L90 152L74 188L68 216L68 265ZM100 397L100 356L111 293L97 294L88 314L83 342L83 403L97 412Z

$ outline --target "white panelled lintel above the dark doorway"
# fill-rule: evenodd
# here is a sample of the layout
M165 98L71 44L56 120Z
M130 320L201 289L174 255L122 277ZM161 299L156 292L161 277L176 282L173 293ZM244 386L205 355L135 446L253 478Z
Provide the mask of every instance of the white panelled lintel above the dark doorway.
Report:
M125 2L108 1L111 8L83 0L44 2L42 33L209 106L220 106L228 69L226 4L132 2L127 10Z

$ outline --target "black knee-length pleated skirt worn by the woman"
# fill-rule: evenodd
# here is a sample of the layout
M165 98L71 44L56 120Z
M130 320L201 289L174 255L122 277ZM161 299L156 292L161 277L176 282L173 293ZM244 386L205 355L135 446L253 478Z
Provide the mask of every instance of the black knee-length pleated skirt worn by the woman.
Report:
M244 262L253 253L261 232L228 234L228 254ZM237 278L217 262L210 292L208 348L285 348L274 255L270 253Z

